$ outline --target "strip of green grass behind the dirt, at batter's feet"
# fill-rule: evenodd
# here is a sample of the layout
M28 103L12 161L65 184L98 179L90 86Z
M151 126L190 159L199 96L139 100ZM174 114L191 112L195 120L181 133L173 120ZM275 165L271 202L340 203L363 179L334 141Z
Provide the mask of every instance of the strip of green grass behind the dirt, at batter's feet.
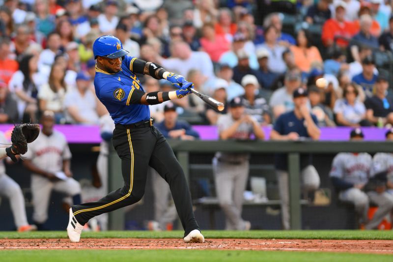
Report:
M314 231L202 231L205 238L276 238L276 239L385 239L393 240L393 231L314 230ZM182 238L182 231L107 231L84 232L82 238ZM65 231L28 233L0 232L0 238L67 238Z

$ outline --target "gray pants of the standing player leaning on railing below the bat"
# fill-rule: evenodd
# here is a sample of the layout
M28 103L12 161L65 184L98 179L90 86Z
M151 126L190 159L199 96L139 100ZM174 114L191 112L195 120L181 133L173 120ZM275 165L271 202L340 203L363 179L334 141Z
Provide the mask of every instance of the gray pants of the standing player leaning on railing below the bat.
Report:
M226 217L226 230L245 230L242 219L243 194L249 175L249 161L239 165L219 162L213 158L213 173L219 204Z

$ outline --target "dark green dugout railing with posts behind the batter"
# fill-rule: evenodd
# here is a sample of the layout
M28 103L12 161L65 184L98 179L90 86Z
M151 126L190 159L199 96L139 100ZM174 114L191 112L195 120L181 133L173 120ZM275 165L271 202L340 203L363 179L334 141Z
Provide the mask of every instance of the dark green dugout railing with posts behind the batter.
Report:
M332 154L338 152L392 152L392 142L336 142L336 141L169 141L190 182L191 153L248 152L248 153L287 153L289 166L290 224L294 230L301 229L300 200L300 154ZM273 163L272 163L273 164ZM111 148L109 156L109 189L116 190L122 183L120 159ZM109 214L111 230L124 229L124 210L118 209Z

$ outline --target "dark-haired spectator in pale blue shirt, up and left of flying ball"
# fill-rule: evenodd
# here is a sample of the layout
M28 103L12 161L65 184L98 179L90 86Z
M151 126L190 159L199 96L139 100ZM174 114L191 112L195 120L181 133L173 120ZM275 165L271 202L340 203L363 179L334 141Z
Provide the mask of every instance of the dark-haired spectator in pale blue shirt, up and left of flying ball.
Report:
M286 47L279 42L279 30L275 26L269 26L265 29L265 43L260 45L269 52L268 67L270 71L281 74L285 72L286 66L282 59L282 54ZM259 48L259 47L258 47Z

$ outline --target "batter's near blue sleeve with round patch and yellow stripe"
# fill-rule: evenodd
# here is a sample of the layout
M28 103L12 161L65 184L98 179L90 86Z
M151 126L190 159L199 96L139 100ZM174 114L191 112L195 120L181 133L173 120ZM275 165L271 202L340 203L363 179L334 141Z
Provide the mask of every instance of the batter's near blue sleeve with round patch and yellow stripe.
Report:
M135 82L135 83L134 83ZM140 104L140 98L144 92L140 86L133 81L132 86L125 85L107 85L100 89L100 99L119 105L129 106L130 104Z

